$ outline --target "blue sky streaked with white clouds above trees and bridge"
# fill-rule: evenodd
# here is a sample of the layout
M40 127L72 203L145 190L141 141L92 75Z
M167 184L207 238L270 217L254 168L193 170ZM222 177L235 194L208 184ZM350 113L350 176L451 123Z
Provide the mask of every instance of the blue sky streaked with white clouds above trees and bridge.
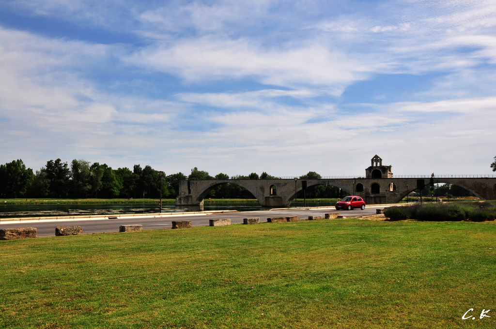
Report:
M0 1L0 163L35 170L491 174L495 87L494 1Z

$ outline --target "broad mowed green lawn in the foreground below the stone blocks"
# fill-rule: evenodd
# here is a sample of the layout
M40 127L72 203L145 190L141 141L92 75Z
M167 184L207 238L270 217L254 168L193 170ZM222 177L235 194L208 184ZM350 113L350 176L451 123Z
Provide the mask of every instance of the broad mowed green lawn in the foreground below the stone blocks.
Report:
M0 250L0 328L496 328L495 222L302 220Z

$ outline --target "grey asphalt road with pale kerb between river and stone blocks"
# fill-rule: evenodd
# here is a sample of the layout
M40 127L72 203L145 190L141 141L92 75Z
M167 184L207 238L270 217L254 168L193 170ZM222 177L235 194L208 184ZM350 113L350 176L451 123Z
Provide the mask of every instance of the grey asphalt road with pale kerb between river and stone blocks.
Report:
M343 216L358 217L376 214L376 209L384 209L384 205L373 205L366 207L365 210L339 211ZM250 212L232 212L232 213L215 213L208 215L209 212L203 212L203 215L187 213L180 216L171 216L162 214L163 217L134 217L125 219L71 219L71 220L53 220L40 221L39 219L22 219L22 222L13 220L1 219L0 229L15 228L15 227L36 227L38 236L55 236L55 228L57 226L77 225L83 228L83 234L104 233L104 232L119 232L120 225L143 225L143 230L146 229L164 229L172 228L173 220L191 220L193 226L208 226L209 219L231 219L233 224L243 223L244 218L260 218L260 222L267 221L267 218L272 217L289 217L298 216L299 219L307 219L309 216L324 215L326 213L338 212L334 208L288 208L269 211L250 211Z

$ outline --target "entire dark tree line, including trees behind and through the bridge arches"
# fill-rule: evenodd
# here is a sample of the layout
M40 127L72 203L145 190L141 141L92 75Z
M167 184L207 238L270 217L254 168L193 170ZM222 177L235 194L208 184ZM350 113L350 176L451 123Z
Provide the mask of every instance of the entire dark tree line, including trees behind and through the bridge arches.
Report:
M50 160L45 166L33 172L22 160L0 164L0 198L159 198L162 186L163 198L179 195L179 181L182 179L278 179L262 172L249 175L229 176L218 173L211 176L207 171L191 169L186 176L182 172L162 176L159 171L146 165L135 164L131 169L113 169L107 164L90 163L86 160L72 160L70 164L61 159ZM314 171L302 175L301 179L318 179ZM334 186L312 186L306 191L308 198L339 197L343 191ZM209 198L244 198L253 196L248 190L236 184L222 184L210 191Z

